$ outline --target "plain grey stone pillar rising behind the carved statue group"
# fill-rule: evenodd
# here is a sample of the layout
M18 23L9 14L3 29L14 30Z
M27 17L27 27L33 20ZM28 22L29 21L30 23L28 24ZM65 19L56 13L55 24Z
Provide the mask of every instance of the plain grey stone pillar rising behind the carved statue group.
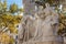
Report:
M24 15L33 15L35 13L34 0L23 0Z

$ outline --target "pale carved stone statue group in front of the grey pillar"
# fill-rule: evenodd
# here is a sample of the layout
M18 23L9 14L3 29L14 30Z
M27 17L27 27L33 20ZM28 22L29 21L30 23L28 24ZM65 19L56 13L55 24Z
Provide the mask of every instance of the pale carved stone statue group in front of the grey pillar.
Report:
M36 15L25 15L19 25L19 44L63 44L57 34L58 13L48 3Z

